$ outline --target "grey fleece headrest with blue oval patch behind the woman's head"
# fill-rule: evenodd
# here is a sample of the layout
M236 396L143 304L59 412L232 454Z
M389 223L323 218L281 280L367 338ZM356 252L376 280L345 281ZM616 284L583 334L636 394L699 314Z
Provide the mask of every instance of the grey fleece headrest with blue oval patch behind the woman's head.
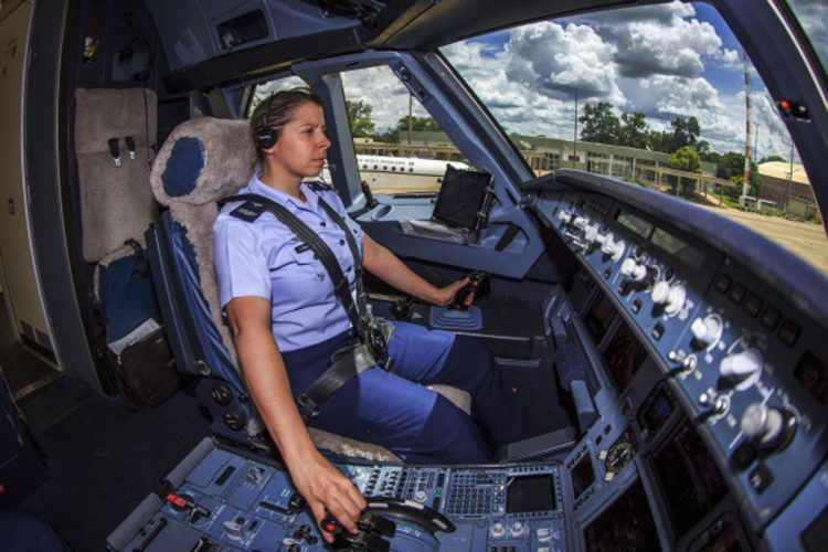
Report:
M152 163L152 193L167 206L203 205L246 184L255 161L246 120L187 120L170 134Z

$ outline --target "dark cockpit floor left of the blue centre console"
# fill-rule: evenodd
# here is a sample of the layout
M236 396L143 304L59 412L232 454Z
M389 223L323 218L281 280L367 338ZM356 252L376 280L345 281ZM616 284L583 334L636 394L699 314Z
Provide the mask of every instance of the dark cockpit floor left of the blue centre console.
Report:
M134 412L85 393L76 380L52 385L23 408L49 457L49 479L21 509L49 521L73 550L105 550L106 537L208 435L208 423L195 399L182 392ZM35 403L41 393L51 396ZM49 415L35 414L35 404ZM68 411L56 415L62 408Z

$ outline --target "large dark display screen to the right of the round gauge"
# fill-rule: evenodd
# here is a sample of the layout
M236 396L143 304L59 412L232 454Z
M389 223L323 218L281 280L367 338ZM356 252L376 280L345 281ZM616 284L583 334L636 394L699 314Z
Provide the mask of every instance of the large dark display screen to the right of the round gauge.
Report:
M652 465L677 537L701 521L728 493L719 467L689 423L652 457Z

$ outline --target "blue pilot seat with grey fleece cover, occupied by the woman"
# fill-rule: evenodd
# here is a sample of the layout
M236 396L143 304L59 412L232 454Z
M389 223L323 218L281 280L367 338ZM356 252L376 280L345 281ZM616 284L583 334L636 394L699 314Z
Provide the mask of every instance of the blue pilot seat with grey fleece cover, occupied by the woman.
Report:
M153 163L150 182L162 209L146 234L152 279L176 365L195 376L195 394L219 437L262 449L273 443L242 380L222 319L213 268L217 201L247 183L256 161L246 120L203 117L179 125ZM432 389L466 413L469 395ZM384 447L309 427L320 449L368 460L402 460Z

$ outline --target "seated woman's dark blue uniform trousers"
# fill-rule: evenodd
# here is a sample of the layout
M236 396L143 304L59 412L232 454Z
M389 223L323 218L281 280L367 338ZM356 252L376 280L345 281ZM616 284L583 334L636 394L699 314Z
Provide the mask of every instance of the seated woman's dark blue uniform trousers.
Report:
M349 340L350 333L343 333L283 353L295 397ZM510 416L503 416L505 394L485 346L474 338L395 322L389 355L391 371L375 367L353 378L321 405L311 425L382 445L408 463L491 461L492 445L503 440L498 434L511 424ZM474 416L426 389L429 384L469 392Z

